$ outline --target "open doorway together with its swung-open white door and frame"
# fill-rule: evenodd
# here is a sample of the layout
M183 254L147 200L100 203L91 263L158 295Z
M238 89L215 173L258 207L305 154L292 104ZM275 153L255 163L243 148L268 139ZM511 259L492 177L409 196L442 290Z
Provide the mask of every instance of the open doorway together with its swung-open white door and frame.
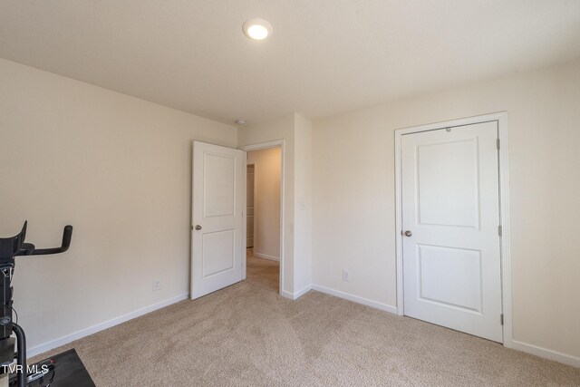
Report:
M258 189L260 214L247 234L247 151L274 154L277 161L250 161L254 187L262 178L257 169L277 170L277 178L263 179ZM254 156L251 156L254 157ZM271 159L271 158L270 158ZM249 177L251 179L251 176ZM208 295L244 279L266 282L275 292L284 292L284 140L249 145L241 150L193 141L191 225L191 299ZM269 189L268 189L269 187ZM276 189L272 195L272 189ZM263 191L266 194L263 194ZM256 201L255 191L251 192ZM266 198L266 201L261 198ZM276 201L277 200L277 201ZM263 204L266 203L264 206ZM241 209L241 210L238 210ZM277 211L276 211L277 208ZM272 217L277 217L273 218ZM276 231L277 230L277 231ZM257 235L257 238L256 238ZM248 242L251 249L247 250ZM262 245L267 248L263 249ZM257 247L256 255L254 247ZM246 251L245 251L246 250ZM249 253L249 254L248 254ZM249 256L248 256L249 255ZM256 265L254 265L256 264ZM259 265L258 265L259 264ZM247 267L250 266L250 267ZM267 274L267 276L264 276ZM263 284L262 284L263 285Z

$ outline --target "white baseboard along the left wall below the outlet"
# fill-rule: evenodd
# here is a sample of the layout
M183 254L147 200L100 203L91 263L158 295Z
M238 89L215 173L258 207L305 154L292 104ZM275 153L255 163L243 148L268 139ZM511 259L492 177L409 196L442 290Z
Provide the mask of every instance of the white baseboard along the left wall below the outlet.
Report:
M176 295L175 297L171 297L167 300L161 301L160 303L145 306L143 308L137 309L133 312L128 314L122 314L118 317L111 318L111 320L104 321L99 324L94 324L89 326L88 328L81 329L80 331L74 332L73 334L67 334L63 337L59 337L58 339L51 340L50 342L42 343L36 345L32 348L28 348L26 351L26 355L28 357L36 356L39 353L45 353L46 351L50 351L56 347L60 347L61 345L71 343L75 340L81 339L82 337L88 336L89 334L96 334L102 330L107 328L111 328L111 326L115 326L126 321L132 320L135 317L139 317L143 314L148 314L153 312L157 309L160 309L165 306L169 306L171 304L178 303L179 301L183 301L189 298L189 293L184 293L182 295Z

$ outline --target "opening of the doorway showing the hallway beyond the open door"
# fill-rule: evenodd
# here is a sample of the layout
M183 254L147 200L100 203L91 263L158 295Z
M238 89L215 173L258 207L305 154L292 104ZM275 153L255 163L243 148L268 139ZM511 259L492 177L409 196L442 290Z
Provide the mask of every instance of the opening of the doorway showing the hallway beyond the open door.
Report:
M282 148L247 151L247 281L281 292Z

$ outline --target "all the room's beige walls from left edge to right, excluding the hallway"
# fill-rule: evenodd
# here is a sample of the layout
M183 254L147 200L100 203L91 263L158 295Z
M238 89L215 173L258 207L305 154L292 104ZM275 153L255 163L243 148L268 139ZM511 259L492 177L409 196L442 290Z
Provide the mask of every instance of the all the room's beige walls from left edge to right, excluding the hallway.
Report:
M53 246L75 227L68 253L18 259L14 306L29 347L187 293L192 140L285 140L283 289L312 282L394 306L393 131L507 111L514 340L578 357L579 105L571 63L314 129L293 114L237 140L230 126L0 60L0 235L28 219L28 239Z

